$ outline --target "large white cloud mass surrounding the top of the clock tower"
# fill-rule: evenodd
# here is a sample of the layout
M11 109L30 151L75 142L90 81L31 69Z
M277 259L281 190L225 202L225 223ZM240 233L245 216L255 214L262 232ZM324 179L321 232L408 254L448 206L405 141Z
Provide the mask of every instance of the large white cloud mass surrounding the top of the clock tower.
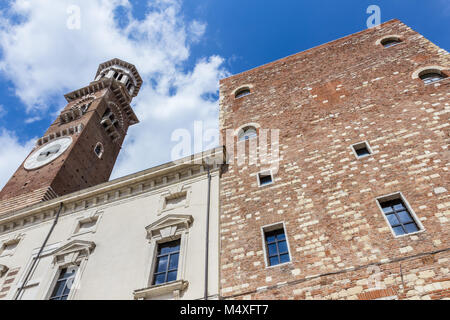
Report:
M79 29L67 27L68 21L76 25L74 11L67 11L74 3ZM124 28L115 17L119 7L126 14ZM181 0L148 1L145 18L137 20L128 0L12 1L0 13L0 72L33 119L54 112L49 102L61 103L64 93L92 81L99 63L117 57L135 64L144 79L133 103L141 122L130 128L113 177L169 161L173 130L191 128L194 120L217 128L218 102L208 96L217 94L218 80L227 74L218 56L183 71L189 46L206 24L186 21L181 7Z

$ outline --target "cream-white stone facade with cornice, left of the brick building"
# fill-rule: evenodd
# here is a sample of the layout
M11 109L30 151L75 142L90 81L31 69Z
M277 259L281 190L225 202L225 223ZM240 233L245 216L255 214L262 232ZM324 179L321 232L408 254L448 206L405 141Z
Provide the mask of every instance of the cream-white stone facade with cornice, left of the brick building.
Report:
M221 148L212 151L209 157L223 157ZM196 155L0 217L0 300L49 299L65 268L76 270L68 299L204 299L205 159ZM209 168L208 298L217 299L220 164ZM18 296L61 203L57 224ZM158 244L176 239L176 281L154 286Z

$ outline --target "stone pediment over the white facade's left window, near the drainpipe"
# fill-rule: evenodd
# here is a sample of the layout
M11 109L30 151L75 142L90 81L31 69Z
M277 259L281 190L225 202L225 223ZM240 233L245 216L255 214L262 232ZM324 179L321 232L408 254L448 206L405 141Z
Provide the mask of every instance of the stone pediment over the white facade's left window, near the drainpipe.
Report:
M53 252L53 262L62 266L79 264L94 248L92 241L73 240Z

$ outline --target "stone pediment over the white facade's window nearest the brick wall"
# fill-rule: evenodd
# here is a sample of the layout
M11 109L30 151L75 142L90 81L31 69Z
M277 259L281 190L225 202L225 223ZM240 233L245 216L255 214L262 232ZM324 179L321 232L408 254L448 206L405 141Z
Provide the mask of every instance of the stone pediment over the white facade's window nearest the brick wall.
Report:
M175 239L179 233L189 229L194 218L191 215L169 214L147 226L148 239Z

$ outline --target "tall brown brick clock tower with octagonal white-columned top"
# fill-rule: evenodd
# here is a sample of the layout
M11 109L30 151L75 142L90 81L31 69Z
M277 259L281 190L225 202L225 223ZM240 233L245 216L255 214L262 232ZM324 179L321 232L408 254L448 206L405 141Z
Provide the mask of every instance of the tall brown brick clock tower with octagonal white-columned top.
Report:
M95 80L68 102L0 192L0 215L109 180L129 126L142 78L134 65L102 63Z

